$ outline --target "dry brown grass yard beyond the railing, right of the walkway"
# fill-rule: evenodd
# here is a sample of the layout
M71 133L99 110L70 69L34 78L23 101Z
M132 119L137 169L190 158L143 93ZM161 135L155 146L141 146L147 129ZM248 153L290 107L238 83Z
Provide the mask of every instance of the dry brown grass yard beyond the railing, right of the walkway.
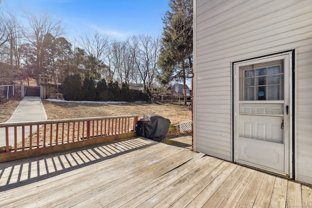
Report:
M101 117L112 115L157 114L168 118L172 124L192 120L192 107L168 103L69 103L42 100L49 120Z

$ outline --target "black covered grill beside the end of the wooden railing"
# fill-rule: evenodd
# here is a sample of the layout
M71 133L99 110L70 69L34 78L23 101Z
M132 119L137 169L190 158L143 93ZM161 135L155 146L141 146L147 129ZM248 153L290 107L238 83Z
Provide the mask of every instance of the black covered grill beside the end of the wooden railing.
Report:
M170 120L160 115L148 115L148 121L139 120L136 125L138 136L155 141L161 141L166 137L169 130Z

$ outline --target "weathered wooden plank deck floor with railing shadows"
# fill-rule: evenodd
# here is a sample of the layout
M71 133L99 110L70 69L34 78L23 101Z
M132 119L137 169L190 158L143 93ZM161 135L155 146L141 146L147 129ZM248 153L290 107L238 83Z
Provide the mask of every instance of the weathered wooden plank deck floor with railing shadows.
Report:
M135 137L0 164L0 207L312 207L312 187Z

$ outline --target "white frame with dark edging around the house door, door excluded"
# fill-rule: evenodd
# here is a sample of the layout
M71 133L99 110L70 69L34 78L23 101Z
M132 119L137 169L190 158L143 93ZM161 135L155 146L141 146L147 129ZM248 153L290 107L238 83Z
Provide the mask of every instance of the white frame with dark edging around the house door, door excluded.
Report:
M238 75L236 75L237 77L235 77L235 66L239 63L242 63L245 65L248 65L249 62L254 62L254 61L258 61L259 63L262 62L268 62L276 57L282 57L282 56L288 56L289 55L289 72L288 72L288 78L286 79L285 77L285 83L287 82L289 85L289 91L288 92L284 92L284 94L288 94L288 103L289 103L289 121L288 121L288 128L289 131L288 133L288 149L285 150L285 157L288 157L288 169L289 169L289 175L287 176L288 178L294 179L294 173L295 173L295 152L294 152L294 130L295 130L295 122L294 122L294 109L295 109L295 82L294 82L294 78L295 78L295 74L294 74L294 65L295 65L295 50L288 50L288 51L283 51L283 52L278 52L278 53L274 53L274 54L270 54L270 55L265 55L265 56L261 56L261 57L254 57L254 58L248 58L248 59L244 59L244 60L239 60L239 61L234 61L232 62L232 162L235 163L235 158L236 158L236 154L235 154L235 148L236 148L236 140L235 140L235 134L236 134L236 116L235 116L235 111L236 111L236 103L235 103L235 94L237 92L235 89L235 79L238 81L239 77ZM281 58L282 59L282 58ZM287 69L284 69L284 73ZM284 105L284 110L285 110L285 106ZM287 137L285 137L286 140ZM257 167L254 167L257 168ZM270 170L267 170L270 171ZM275 173L278 174L278 173Z

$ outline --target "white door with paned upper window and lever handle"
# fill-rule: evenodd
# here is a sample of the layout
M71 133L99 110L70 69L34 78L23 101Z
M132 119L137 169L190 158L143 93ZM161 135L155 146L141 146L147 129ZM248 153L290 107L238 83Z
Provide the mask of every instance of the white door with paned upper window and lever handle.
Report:
M289 177L291 54L234 64L234 161Z

